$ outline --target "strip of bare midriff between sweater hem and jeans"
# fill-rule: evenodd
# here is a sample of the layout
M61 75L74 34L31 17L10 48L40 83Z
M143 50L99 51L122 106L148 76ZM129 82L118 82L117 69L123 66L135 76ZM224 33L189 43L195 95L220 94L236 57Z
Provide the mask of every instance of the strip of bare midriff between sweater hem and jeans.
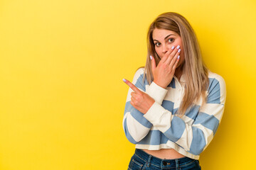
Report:
M175 149L159 149L159 150L147 150L143 149L144 152L153 155L154 157L158 157L160 159L177 159L186 157L183 154L176 152Z

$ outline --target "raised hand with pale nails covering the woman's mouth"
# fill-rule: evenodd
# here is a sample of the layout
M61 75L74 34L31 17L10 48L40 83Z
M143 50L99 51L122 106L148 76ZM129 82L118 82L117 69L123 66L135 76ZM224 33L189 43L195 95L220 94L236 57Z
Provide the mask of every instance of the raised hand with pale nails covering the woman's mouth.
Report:
M169 49L164 57L161 58L159 64L156 67L156 61L154 57L151 57L151 68L154 77L154 83L166 89L174 78L174 72L179 61L179 54L181 50L176 47Z

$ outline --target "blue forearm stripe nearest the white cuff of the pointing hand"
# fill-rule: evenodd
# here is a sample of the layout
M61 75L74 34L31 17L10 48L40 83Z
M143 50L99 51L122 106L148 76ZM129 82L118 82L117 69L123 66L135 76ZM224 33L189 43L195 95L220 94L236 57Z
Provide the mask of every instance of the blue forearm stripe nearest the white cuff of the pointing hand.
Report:
M164 132L164 135L169 138L172 142L179 140L186 128L186 124L181 118L174 116L171 120L171 127Z

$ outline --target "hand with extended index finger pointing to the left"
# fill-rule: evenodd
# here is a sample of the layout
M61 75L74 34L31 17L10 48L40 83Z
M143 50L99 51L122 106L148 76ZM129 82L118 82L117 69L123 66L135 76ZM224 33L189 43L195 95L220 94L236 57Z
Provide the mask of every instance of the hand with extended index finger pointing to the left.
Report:
M131 104L141 113L145 114L149 111L149 108L154 104L154 99L151 98L148 94L140 91L137 86L134 86L127 79L123 79L124 83L126 83L134 92L131 93Z

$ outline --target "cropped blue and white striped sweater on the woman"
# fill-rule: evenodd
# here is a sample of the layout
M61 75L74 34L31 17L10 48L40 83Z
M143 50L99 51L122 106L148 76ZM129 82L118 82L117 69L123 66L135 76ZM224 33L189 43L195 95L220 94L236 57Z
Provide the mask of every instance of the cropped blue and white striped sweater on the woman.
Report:
M146 78L143 82L143 76L144 68L138 69L132 83L155 102L145 114L139 112L130 103L132 89L129 88L122 123L129 142L138 149L175 149L186 157L199 159L223 117L226 98L223 77L209 70L206 103L201 99L196 101L196 105L179 118L175 113L184 94L184 75L180 81L174 76L166 89L154 81L149 85Z

